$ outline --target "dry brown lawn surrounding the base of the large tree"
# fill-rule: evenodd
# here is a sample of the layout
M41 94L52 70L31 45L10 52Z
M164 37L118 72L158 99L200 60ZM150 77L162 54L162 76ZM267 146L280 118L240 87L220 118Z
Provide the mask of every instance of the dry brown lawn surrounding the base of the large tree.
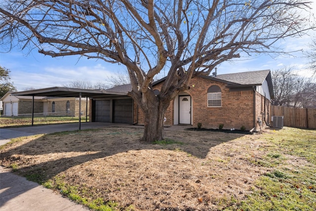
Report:
M265 168L262 134L165 130L181 143L140 142L142 129L99 130L25 137L0 151L0 165L22 175L44 175L134 210L218 210L244 199ZM271 132L269 130L263 133ZM88 191L87 191L88 190Z

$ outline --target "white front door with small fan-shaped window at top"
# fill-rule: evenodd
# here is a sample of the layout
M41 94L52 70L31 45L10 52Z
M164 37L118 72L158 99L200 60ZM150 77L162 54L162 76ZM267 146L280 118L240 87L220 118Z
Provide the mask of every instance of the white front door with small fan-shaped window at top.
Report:
M191 96L179 97L179 124L191 124Z

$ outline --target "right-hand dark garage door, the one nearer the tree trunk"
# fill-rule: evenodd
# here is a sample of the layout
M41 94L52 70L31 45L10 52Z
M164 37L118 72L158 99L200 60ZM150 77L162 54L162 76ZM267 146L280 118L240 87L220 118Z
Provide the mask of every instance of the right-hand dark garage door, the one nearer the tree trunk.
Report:
M133 122L133 100L117 99L113 101L113 122L132 124Z

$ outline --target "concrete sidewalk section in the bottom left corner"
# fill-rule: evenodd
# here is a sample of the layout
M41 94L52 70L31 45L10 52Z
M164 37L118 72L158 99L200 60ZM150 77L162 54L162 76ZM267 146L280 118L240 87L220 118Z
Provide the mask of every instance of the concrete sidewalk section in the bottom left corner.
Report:
M1 211L88 211L52 190L0 167Z

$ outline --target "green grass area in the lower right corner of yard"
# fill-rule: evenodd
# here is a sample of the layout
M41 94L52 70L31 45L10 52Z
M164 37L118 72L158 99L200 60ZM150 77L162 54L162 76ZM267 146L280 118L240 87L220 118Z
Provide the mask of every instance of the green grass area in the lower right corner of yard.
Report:
M263 139L269 153L262 160L249 160L271 170L255 182L246 200L225 210L315 211L316 130L285 127L265 134ZM289 165L289 156L297 157L290 157L292 163L303 161L304 165Z

